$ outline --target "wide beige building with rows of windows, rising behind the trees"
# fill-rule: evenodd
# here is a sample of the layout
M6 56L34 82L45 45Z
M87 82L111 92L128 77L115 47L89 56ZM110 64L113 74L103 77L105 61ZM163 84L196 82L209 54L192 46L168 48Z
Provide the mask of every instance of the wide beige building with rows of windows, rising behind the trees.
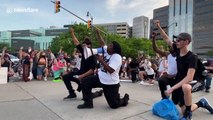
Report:
M129 25L127 22L119 22L119 23L103 23L103 24L95 24L95 26L104 27L108 32L121 35L124 38L129 37Z

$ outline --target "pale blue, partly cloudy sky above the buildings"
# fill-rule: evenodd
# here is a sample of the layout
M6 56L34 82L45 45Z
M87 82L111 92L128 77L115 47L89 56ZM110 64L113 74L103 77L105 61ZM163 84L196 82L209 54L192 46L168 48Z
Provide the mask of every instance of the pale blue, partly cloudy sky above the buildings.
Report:
M0 31L48 28L82 22L61 8L54 13L51 0L1 0ZM168 0L60 0L61 6L94 24L127 22L134 17L153 17L153 9L168 5Z

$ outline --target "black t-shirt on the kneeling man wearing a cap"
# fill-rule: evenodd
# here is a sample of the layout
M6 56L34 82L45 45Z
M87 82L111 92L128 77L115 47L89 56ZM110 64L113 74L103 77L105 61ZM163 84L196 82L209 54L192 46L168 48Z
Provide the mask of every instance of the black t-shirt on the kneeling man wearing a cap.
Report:
M175 46L176 47L176 46ZM202 72L198 69L198 57L194 55L191 51L189 51L186 55L180 56L180 50L177 48L174 48L176 50L175 52L177 53L177 75L176 75L176 80L180 82L187 76L187 72L189 68L194 68L195 75L193 80L197 81L202 81Z

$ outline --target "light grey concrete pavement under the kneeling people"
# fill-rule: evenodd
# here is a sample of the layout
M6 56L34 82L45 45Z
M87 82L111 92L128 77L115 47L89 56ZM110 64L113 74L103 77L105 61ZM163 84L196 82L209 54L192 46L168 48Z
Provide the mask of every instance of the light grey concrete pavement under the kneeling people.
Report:
M73 83L74 88L76 84ZM152 105L161 99L157 83L143 86L122 81L121 96L130 95L127 107L109 108L104 96L94 99L93 109L77 109L82 95L63 101L67 96L64 83L52 81L10 82L0 85L0 116L2 120L161 120L152 114ZM193 101L206 97L213 104L213 91L193 94ZM213 120L207 110L200 108L193 113L193 120Z

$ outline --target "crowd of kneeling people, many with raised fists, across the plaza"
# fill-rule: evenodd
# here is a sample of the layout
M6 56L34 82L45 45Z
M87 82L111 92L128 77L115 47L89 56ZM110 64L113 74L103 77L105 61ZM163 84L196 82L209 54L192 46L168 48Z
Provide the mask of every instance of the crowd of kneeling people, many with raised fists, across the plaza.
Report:
M120 97L120 79L131 79L133 83L139 81L141 85L153 85L157 81L162 99L168 99L172 94L172 101L181 107L181 120L192 119L192 112L199 107L213 114L207 99L201 98L192 103L192 93L203 89L210 92L213 62L208 61L202 68L203 63L198 56L188 49L192 41L190 34L180 33L176 41L171 41L159 20L155 21L155 25L169 49L165 51L158 47L156 33L153 33L152 47L157 54L155 58L146 55L139 55L138 58L122 57L119 43L113 41L107 46L99 30L96 30L96 38L100 47L93 48L89 37L80 43L71 28L70 34L76 46L72 57L63 52L62 48L55 57L50 49L37 51L31 47L28 50L21 47L20 61L13 65L5 47L2 50L1 66L8 68L8 81L14 74L18 74L24 81L32 78L47 81L47 77L52 74L53 81L63 81L67 88L68 96L64 100L77 97L72 86L72 82L75 82L78 85L76 90L82 92L84 101L78 105L78 109L93 108L93 99L103 93L111 108L127 106L129 94ZM207 70L205 75L204 70ZM168 85L171 86L169 89ZM92 88L97 87L101 90L92 93Z

